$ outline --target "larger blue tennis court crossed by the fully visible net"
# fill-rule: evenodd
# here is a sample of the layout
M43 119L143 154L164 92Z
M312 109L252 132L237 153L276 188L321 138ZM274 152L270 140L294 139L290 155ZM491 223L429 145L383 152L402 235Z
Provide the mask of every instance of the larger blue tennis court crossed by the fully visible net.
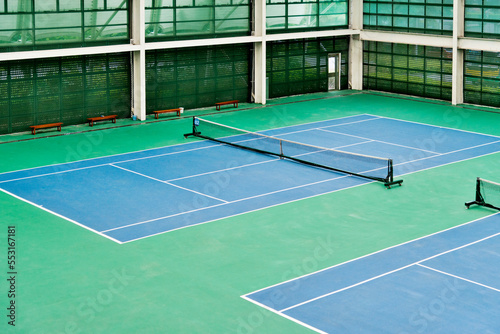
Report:
M500 151L500 137L367 114L262 133L391 158L395 176ZM364 173L370 167L346 168ZM125 243L368 182L372 181L195 139L3 173L0 191Z

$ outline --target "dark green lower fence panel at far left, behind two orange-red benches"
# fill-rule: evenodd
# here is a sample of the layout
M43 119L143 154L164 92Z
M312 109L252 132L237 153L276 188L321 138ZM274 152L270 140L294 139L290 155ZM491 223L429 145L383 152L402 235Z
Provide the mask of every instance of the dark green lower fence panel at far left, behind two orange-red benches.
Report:
M108 54L0 63L0 134L30 125L130 117L130 56Z

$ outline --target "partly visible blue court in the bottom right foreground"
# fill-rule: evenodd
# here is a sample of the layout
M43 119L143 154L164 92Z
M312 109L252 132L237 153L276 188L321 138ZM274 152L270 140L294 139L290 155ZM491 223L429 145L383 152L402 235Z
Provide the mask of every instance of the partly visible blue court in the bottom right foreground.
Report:
M243 298L319 333L498 333L500 213Z

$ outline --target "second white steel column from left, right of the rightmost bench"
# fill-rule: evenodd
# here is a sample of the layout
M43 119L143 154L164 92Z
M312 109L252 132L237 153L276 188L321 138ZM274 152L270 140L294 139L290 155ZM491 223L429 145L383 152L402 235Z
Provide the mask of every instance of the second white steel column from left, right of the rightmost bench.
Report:
M260 41L254 44L254 83L253 95L255 103L266 104L266 0L254 1L253 8L255 37Z

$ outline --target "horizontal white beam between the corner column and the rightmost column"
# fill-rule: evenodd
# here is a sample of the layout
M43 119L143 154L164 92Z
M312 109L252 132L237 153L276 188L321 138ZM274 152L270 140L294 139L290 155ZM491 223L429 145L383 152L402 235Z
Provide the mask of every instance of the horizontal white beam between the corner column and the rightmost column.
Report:
M399 44L427 45L444 48L453 47L452 36L411 34L394 31L364 30L361 31L361 40Z

